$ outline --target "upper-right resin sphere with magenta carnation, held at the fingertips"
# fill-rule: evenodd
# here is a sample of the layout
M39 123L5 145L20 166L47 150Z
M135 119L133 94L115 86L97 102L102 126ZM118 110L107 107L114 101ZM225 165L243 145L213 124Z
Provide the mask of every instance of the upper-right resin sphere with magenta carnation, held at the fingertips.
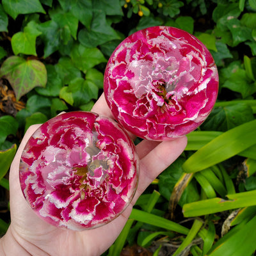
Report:
M104 92L127 131L148 140L172 140L207 118L218 95L218 71L195 36L156 26L118 45L106 67Z

